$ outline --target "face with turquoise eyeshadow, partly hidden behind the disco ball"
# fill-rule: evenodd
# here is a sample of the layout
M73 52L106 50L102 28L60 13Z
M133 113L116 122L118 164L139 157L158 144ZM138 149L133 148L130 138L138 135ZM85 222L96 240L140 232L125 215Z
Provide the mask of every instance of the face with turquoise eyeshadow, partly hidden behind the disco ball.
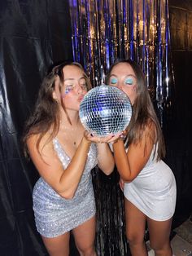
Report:
M134 100L137 96L137 77L130 64L116 64L116 66L111 69L109 85L116 86L120 90L123 90L124 93L129 96L131 104L134 104Z

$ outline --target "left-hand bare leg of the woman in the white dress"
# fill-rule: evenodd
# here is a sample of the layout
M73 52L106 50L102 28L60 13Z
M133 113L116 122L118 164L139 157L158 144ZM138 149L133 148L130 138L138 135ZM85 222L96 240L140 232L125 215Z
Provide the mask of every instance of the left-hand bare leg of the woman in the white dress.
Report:
M147 256L144 241L146 215L124 198L126 235L132 256Z

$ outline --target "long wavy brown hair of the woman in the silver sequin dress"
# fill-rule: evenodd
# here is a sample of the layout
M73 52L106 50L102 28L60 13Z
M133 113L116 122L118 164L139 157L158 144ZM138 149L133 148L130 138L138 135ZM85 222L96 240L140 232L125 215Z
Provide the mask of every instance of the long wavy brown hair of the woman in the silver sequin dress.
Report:
M37 102L34 107L33 114L28 118L24 126L24 135L22 142L24 145L24 155L28 157L28 148L27 148L27 139L31 135L39 135L37 139L37 150L39 151L39 143L46 133L49 131L50 136L48 141L53 139L59 131L60 124L60 114L59 114L59 104L53 98L53 91L55 90L55 80L59 77L59 90L63 86L64 74L63 68L65 66L76 66L81 68L83 71L85 81L88 87L88 90L91 88L89 78L87 77L84 68L81 64L76 62L63 62L62 64L53 65L46 76L44 77L39 92L37 96ZM64 112L68 117L68 113L64 107L63 101L61 101ZM69 123L71 123L68 117ZM51 127L51 129L50 129Z

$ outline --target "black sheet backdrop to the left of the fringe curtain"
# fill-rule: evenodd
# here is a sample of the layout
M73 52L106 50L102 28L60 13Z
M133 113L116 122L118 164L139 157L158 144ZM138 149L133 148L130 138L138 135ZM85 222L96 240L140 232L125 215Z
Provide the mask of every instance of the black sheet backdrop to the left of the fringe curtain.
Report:
M47 255L33 219L37 170L20 135L46 69L72 60L68 1L0 1L0 255Z

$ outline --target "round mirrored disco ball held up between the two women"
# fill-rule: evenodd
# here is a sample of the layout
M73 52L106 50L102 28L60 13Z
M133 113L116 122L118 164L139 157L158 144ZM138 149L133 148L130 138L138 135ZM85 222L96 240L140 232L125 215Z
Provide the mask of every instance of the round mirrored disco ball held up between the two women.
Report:
M80 119L86 130L106 136L124 130L132 116L129 97L115 86L96 86L80 105Z

